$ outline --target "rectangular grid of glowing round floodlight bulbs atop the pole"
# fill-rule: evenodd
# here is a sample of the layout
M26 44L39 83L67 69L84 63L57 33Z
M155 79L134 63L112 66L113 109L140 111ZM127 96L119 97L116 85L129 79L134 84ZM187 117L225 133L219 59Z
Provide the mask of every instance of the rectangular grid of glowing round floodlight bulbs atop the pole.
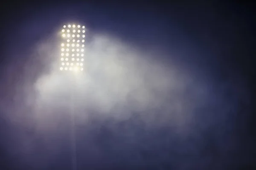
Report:
M83 71L85 26L64 25L61 30L61 71Z

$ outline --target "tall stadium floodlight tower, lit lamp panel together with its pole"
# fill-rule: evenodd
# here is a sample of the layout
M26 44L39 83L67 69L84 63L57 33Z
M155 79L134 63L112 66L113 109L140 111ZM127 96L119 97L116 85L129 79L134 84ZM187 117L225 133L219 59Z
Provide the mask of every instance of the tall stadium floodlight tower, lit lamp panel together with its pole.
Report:
M77 169L76 128L74 90L77 86L77 74L84 71L85 26L64 25L61 29L60 71L68 76L70 82L71 152L72 169Z

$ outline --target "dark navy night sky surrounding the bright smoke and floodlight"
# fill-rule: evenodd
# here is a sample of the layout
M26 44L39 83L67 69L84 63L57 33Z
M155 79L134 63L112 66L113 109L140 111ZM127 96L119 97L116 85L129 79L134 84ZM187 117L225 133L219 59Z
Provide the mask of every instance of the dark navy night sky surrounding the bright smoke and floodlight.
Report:
M22 90L26 86L34 94L31 84L41 75L49 74L49 62L54 60L31 57L35 46L45 39L54 43L55 32L69 21L87 27L89 47L96 36L118 39L148 56L142 57L144 63L156 61L172 69L171 63L175 62L180 72L208 89L206 104L189 111L193 123L186 126L190 129L186 135L175 130L172 121L166 120L165 126L157 127L145 123L146 118L138 115L145 115L147 109L114 111L131 112L129 119L122 121L111 116L102 118L97 111L91 111L90 123L80 122L78 127L79 170L256 169L253 125L256 18L252 3L44 2L6 3L1 7L1 170L70 169L69 133L55 137L38 133L34 119L30 118L33 111L25 106L26 93ZM170 72L166 74L171 77ZM196 83L186 85L181 99L186 103L182 107L187 108L189 101L196 100L193 97L197 92L193 89L198 88ZM20 98L16 99L17 96ZM167 98L164 105L172 105L174 100L179 102L172 98ZM57 110L50 112L57 115L65 112L54 109ZM83 110L78 112L82 114ZM150 110L157 120L166 113L167 110L160 108ZM67 115L63 115L61 121L65 122ZM28 153L23 150L26 139L32 140L27 145L33 146L26 150ZM55 144L58 147L52 149Z

